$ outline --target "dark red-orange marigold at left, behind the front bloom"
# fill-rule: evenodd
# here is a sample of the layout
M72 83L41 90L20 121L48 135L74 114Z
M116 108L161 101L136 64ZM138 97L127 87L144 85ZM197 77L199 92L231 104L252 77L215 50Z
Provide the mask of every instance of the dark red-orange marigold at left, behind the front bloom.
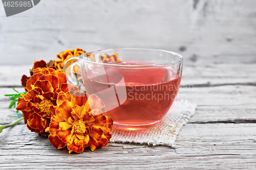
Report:
M24 122L32 132L46 134L51 117L55 114L59 92L76 87L67 83L66 74L52 68L36 68L27 81L28 93L18 99L17 110L23 112Z

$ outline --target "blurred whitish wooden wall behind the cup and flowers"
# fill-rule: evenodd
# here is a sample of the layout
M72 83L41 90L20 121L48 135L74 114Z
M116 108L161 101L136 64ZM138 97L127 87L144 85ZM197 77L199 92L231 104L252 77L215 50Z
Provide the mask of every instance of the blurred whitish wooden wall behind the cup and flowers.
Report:
M41 1L6 17L0 8L0 64L49 61L68 48L161 48L186 63L256 62L254 0Z

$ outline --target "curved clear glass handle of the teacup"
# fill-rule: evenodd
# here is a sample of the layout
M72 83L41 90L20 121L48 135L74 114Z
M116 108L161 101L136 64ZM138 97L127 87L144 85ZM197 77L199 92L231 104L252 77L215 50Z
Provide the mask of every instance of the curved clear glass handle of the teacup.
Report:
M78 87L79 85L82 85L82 83L78 81L77 76L74 74L75 65L78 65L80 68L79 57L71 57L68 59L63 66L63 72L65 72L68 77L67 82Z

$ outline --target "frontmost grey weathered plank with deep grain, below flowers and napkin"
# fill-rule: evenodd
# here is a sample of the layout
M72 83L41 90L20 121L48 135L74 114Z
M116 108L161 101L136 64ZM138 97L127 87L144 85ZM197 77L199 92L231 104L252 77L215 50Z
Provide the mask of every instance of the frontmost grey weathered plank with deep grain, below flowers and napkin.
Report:
M148 168L166 169L175 164L254 164L256 124L186 124L177 149L145 144L109 143L105 148L80 154L56 150L48 139L17 125L1 134L0 165L11 168ZM3 140L2 140L3 139ZM171 161L170 161L171 160ZM238 165L238 169L244 169ZM197 169L197 168L193 168Z

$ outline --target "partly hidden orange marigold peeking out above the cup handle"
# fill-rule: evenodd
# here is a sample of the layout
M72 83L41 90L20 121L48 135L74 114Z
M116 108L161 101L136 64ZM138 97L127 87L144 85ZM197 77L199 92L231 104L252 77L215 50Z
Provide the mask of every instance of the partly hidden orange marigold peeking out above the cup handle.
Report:
M63 70L64 63L74 56L80 56L81 54L86 53L81 48L76 48L75 50L66 50L64 52L59 53L56 55L58 60L54 60L54 66L60 71Z

